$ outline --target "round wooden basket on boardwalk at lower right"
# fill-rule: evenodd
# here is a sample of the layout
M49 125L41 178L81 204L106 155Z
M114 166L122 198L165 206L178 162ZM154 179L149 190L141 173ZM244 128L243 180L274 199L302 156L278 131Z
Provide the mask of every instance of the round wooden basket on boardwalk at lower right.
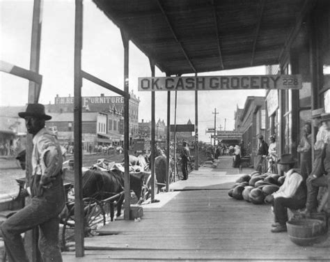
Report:
M319 219L292 219L287 223L288 236L297 245L313 245L327 239L325 222Z

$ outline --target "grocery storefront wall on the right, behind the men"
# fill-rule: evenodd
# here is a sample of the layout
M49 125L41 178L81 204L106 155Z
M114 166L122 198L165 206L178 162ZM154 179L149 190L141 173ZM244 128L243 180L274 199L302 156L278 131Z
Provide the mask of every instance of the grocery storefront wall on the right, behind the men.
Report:
M299 74L299 91L267 91L267 132L274 135L279 155L291 153L299 159L297 146L304 123L311 122L311 111L330 112L330 2L317 1L315 8L289 41L280 65L267 67L267 74ZM317 128L312 129L313 143Z

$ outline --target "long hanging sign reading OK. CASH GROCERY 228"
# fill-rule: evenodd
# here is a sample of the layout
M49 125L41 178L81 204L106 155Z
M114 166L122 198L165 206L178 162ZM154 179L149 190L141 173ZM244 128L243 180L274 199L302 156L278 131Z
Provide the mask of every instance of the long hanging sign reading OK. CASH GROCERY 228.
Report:
M139 91L300 89L301 75L139 77Z

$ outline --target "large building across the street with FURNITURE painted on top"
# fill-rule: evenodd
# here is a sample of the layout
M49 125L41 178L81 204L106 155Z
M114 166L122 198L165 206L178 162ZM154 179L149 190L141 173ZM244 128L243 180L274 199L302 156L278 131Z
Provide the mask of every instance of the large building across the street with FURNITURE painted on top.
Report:
M95 151L95 146L118 146L123 144L124 98L121 96L82 97L82 137L85 151ZM132 144L139 133L139 98L130 94L129 138ZM47 127L56 132L62 144L73 143L74 97L56 95L54 104L45 105L52 116Z

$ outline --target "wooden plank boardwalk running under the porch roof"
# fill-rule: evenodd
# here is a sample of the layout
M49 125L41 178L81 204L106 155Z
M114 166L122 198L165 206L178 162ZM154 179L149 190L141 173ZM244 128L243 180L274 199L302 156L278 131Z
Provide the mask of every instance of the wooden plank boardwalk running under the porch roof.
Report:
M85 238L85 256L63 252L63 261L330 261L329 239L294 245L287 233L270 232L270 206L230 199L239 174L229 164L224 157L192 172L157 194L159 203L143 205L141 222L111 222L100 231L113 235Z

